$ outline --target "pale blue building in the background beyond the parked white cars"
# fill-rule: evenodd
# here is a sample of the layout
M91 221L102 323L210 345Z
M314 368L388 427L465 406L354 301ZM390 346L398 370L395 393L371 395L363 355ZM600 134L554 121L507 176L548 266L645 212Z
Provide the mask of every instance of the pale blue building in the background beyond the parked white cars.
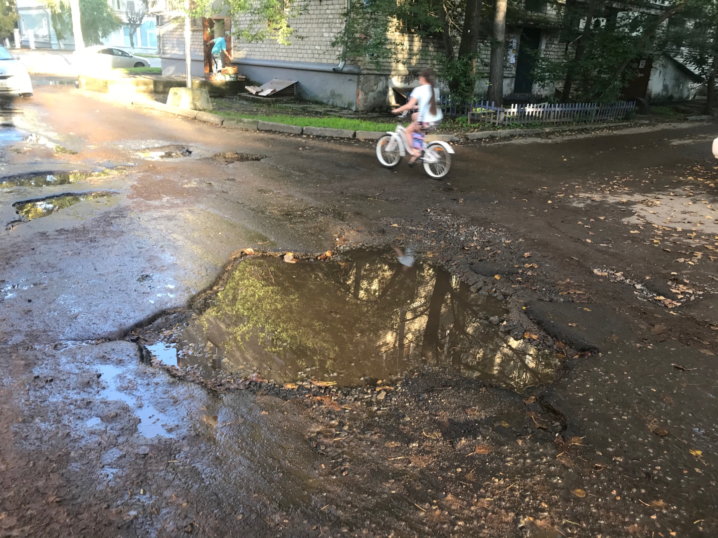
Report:
M118 19L121 20L121 27L116 29L105 39L103 44L111 47L130 48L130 29L127 25L125 11L128 1L132 0L108 0L110 6ZM75 40L72 34L62 39L57 39L55 30L52 29L50 10L47 9L41 0L17 0L18 28L20 30L20 42L22 47L29 47L28 31L34 33L35 47L38 49L75 49ZM137 28L135 34L134 52L140 54L157 54L157 16L147 14L141 27Z

